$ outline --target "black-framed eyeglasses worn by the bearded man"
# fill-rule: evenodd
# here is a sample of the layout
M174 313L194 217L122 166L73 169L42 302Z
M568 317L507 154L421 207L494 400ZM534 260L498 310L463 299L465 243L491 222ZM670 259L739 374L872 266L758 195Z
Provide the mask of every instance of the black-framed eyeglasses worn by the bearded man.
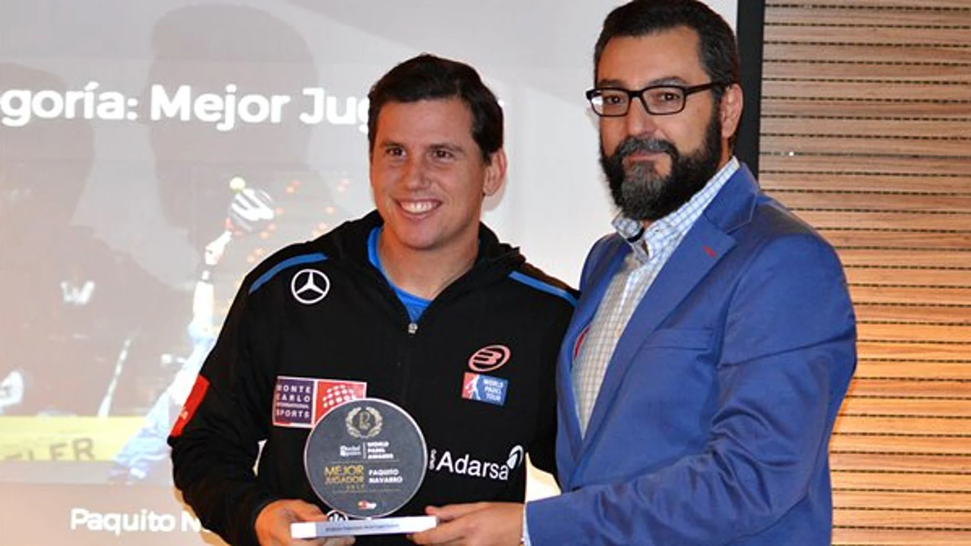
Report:
M648 85L643 89L631 91L621 87L594 87L586 91L593 112L603 117L620 117L630 111L630 103L640 99L644 110L654 115L670 115L685 110L689 95L707 91L713 87L729 85L721 81L710 81L701 85Z

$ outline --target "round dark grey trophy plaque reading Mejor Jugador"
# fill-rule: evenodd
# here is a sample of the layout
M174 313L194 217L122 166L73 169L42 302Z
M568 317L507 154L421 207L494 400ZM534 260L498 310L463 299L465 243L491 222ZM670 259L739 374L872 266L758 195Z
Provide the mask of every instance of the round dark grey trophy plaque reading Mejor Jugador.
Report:
M418 424L380 399L330 410L307 437L304 468L317 496L355 518L378 518L419 490L428 451Z

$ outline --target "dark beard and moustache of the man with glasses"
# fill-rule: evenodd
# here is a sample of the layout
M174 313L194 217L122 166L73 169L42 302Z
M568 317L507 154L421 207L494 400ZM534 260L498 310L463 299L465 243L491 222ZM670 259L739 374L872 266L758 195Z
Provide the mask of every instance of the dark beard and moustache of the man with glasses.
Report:
M662 152L671 156L671 173L659 177L653 162L634 163L623 169L623 159L636 152ZM668 141L627 137L608 156L600 144L600 167L607 177L620 213L637 221L653 222L686 204L718 172L721 160L720 112L712 113L701 149L682 155Z

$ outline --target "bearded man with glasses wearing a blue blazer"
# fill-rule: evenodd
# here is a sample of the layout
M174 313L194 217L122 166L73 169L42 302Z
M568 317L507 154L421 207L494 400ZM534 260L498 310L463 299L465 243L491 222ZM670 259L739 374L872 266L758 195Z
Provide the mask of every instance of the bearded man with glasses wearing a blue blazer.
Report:
M415 541L828 546L854 311L833 249L732 155L732 31L695 0L634 0L594 64L618 233L560 352L564 493L429 508L445 523Z

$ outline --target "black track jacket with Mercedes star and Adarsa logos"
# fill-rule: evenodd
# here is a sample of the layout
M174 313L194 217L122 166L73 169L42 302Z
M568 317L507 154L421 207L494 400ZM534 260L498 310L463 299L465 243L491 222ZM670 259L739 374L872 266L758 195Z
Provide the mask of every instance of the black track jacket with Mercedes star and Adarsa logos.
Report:
M231 544L256 544L255 516L272 500L302 498L329 510L303 462L318 418L311 405L328 388L366 384L367 397L400 405L421 427L424 482L391 515L521 501L523 451L553 469L554 367L575 293L481 225L473 268L413 324L368 261L368 235L381 223L372 212L256 267L185 402L169 437L175 484L203 525ZM467 374L482 369L500 396L492 389L491 400L470 400ZM313 392L316 403L284 403L280 393L294 388ZM357 544L410 542L364 536Z

